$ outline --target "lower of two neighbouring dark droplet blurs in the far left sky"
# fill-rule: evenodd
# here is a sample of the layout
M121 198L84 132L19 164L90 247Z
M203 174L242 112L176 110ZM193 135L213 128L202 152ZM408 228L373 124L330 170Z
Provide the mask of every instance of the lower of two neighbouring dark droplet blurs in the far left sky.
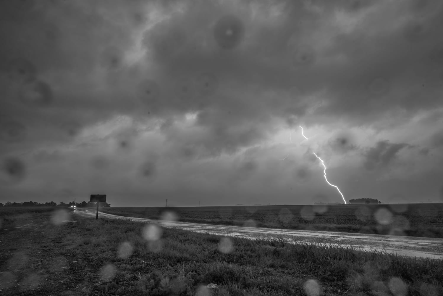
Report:
M35 81L21 87L19 98L30 107L47 107L53 101L53 94L51 86L46 82Z

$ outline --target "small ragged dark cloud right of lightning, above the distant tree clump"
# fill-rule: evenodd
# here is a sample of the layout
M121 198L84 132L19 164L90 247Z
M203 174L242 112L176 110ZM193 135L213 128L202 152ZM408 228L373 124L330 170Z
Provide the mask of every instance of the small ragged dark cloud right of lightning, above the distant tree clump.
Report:
M389 141L377 142L375 147L369 148L365 153L365 168L374 170L388 166L396 157L396 154L403 148L411 148L405 143L389 143Z

